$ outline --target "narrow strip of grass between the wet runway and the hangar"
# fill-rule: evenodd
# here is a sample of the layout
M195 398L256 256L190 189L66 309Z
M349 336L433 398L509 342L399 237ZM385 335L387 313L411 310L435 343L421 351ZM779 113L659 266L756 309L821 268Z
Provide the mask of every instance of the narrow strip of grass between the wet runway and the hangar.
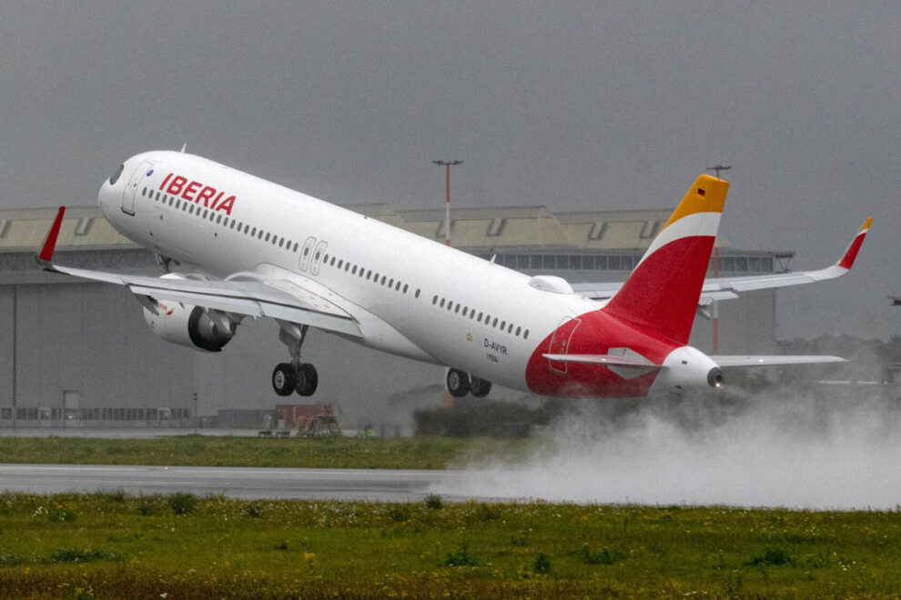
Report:
M0 438L0 461L53 465L280 466L443 469L467 457L511 455L526 441L409 437L319 439L182 435L153 439Z

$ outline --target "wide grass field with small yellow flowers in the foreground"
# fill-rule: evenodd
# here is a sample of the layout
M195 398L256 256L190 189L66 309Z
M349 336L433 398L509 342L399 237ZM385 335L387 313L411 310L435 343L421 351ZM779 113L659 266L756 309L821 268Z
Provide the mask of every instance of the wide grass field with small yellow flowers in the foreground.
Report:
M896 597L901 514L0 495L5 597ZM74 518L55 519L65 512Z

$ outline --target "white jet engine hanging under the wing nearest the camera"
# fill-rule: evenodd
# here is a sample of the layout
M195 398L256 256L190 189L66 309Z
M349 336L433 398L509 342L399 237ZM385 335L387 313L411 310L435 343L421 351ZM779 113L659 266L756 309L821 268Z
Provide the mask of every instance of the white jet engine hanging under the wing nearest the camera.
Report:
M164 278L186 279L191 275L163 275ZM211 313L202 306L168 300L147 299L144 320L154 334L167 342L195 350L219 352L235 336L238 320L220 312ZM156 310L151 310L148 306Z

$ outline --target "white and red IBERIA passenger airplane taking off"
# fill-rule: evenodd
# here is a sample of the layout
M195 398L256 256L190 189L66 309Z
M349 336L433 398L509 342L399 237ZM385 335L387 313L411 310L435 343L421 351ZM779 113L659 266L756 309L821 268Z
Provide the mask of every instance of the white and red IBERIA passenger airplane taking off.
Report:
M311 327L444 365L456 397L484 397L492 384L563 397L682 394L720 387L727 367L843 361L706 355L688 345L695 315L711 302L844 275L872 223L824 269L707 279L728 187L698 176L623 283L575 289L183 148L128 158L98 193L110 225L157 255L165 275L55 264L65 206L35 258L47 271L127 286L154 334L198 351L219 352L248 316L274 319L290 356L271 377L283 396L317 389L316 367L301 358Z

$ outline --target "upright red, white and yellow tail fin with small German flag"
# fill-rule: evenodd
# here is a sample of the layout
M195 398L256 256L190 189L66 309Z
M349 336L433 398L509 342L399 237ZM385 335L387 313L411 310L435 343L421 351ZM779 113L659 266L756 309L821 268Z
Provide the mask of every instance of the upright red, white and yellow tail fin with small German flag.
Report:
M680 344L692 333L729 182L700 175L602 310Z

